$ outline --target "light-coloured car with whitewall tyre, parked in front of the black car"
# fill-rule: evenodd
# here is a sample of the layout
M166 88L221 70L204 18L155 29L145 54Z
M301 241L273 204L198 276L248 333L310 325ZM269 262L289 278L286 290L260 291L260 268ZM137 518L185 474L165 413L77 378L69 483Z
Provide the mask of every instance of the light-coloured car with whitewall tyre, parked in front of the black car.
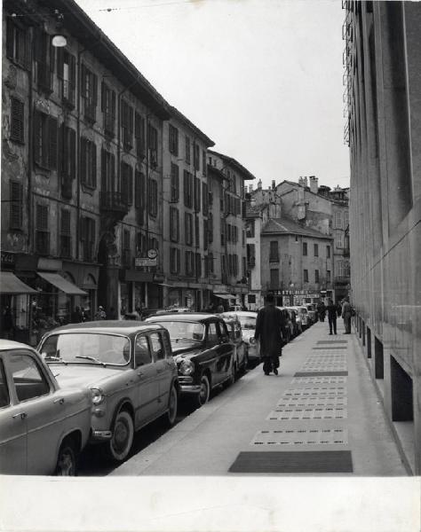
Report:
M122 462L134 432L177 416L179 379L168 332L157 324L99 321L48 332L39 351L61 387L91 391L91 442Z

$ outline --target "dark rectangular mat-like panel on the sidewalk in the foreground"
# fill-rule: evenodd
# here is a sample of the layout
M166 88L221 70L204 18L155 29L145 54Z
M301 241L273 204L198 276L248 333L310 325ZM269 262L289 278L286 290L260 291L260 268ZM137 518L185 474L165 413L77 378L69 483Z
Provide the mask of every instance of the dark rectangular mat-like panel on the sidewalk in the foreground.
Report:
M350 450L241 452L228 473L353 473Z

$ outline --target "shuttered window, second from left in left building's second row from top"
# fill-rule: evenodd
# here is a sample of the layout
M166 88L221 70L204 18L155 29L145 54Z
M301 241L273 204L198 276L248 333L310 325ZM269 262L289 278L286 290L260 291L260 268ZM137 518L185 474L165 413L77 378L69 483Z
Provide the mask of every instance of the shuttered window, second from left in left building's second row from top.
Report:
M34 160L42 168L57 168L57 119L34 112Z

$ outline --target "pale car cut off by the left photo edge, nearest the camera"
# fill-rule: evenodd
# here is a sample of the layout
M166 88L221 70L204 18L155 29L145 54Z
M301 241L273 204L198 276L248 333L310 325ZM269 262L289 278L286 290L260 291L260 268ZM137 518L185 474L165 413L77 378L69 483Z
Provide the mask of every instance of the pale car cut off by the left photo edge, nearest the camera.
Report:
M91 394L61 388L36 350L0 340L0 473L75 475Z

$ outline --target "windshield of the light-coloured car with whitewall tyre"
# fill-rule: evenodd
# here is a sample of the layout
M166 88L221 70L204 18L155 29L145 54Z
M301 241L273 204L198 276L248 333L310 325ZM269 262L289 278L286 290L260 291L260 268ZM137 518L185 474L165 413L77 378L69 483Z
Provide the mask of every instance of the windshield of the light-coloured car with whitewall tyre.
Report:
M44 340L40 351L48 363L125 365L130 362L128 338L99 332L52 334Z

